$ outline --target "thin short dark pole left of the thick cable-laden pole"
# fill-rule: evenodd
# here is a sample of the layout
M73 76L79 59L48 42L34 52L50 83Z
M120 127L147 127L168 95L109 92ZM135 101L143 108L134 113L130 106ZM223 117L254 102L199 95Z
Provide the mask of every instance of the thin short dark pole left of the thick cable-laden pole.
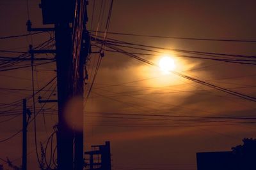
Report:
M27 170L27 101L23 99L23 116L22 116L22 170Z

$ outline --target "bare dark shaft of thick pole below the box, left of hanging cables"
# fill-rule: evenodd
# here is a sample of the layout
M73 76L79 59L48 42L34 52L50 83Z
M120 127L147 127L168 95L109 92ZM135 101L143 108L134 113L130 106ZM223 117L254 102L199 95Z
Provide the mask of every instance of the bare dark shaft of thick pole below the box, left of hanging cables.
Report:
M72 63L71 53L71 29L68 22L55 24L56 39L56 64L58 83L58 169L74 169L73 166L73 131L65 120L64 109L72 95L70 82L72 74L69 71Z

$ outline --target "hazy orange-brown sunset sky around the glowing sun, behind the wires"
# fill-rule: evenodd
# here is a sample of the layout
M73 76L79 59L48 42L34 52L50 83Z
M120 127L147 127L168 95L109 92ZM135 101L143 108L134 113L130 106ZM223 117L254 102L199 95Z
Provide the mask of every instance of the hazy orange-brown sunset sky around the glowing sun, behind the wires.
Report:
M27 34L28 18L33 27L51 27L52 25L42 25L39 3L40 1L30 0L27 8L25 0L1 1L0 37ZM110 0L95 0L94 3L89 1L87 29L92 31L92 36L95 37L95 31L98 31L97 38L104 36L99 31L105 31L110 3ZM100 12L101 5L102 12ZM195 118L182 117L253 117L256 111L255 101L206 87L173 74L172 71L164 73L157 67L162 57L169 56L175 62L173 71L256 97L255 65L187 58L182 55L193 54L178 52L178 50L187 50L255 56L255 42L173 39L176 37L255 40L255 5L255 1L249 0L113 1L109 39L164 49L147 48L157 51L152 52L117 46L125 52L144 53L144 55L140 54L141 58L156 64L150 66L124 53L109 52L108 50L111 49L106 46L92 91L90 96L86 97L92 84L93 68L96 66L99 53L90 55L84 93L85 150L90 150L91 145L110 141L114 170L195 170L196 152L230 150L232 146L240 145L243 138L255 138L255 124L248 123L253 120L246 124L234 124L234 122L214 122L214 119L211 119L212 122L191 121ZM111 34L111 32L162 38ZM37 46L52 37L54 37L52 32L45 32L33 35L32 38L23 36L0 39L1 56L15 57L20 53L6 53L3 50L27 52L30 44ZM92 52L99 52L99 48L95 45L99 45L99 42L92 39ZM47 48L54 48L54 41L50 41ZM52 57L51 54L38 56ZM24 63L30 64L29 61L22 64ZM1 66L2 69L5 67ZM56 76L54 70L56 70L55 63L36 66L35 89L41 89L51 81ZM1 141L22 129L22 99L32 94L31 67L1 71L0 78L0 113L6 111L13 114L20 113L15 115L15 118L13 115L0 115ZM52 94L51 99L57 98L56 80L53 80L44 91L36 94L36 101L39 96L47 99L50 94ZM13 105L6 105L10 103ZM36 111L40 110L42 105L36 103ZM31 99L28 100L28 106L32 108ZM47 140L58 120L56 103L45 104L44 108L41 113L45 114L39 114L36 119L39 150L40 141L44 143ZM8 120L10 118L12 119ZM33 124L29 124L29 169L38 167L34 135ZM13 164L20 166L22 134L1 142L0 149L0 158L8 157ZM0 162L2 163L4 162Z

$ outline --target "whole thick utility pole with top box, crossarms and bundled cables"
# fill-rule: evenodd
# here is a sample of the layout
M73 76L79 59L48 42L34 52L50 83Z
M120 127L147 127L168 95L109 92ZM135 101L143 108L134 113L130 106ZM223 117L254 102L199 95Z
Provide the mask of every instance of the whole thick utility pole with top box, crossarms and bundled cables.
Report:
M58 102L57 156L58 170L83 170L83 110L75 125L68 124L65 107L70 99L83 101L84 64L90 52L86 0L41 0L43 24L51 28L32 28L28 31L55 31L55 50L33 50L34 53L56 53L58 99L40 101ZM76 9L76 10L75 10ZM80 130L76 126L82 127Z

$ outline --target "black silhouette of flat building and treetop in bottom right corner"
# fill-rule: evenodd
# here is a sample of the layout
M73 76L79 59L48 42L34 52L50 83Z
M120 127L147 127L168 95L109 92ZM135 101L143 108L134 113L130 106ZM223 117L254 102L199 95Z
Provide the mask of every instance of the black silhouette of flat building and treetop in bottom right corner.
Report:
M244 138L228 152L196 153L196 162L198 170L255 170L256 139Z

